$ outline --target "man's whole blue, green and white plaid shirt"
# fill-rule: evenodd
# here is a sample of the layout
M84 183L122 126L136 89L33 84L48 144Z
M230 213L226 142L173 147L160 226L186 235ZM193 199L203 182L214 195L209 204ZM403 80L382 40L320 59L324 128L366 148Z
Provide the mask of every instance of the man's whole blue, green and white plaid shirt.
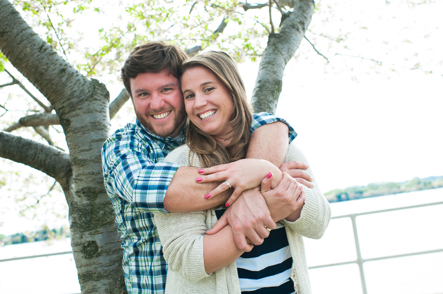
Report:
M251 133L258 127L285 120L260 112L253 115ZM289 142L297 135L289 127ZM117 130L101 152L106 191L123 241L123 272L129 294L162 294L167 264L152 213L167 213L163 198L179 165L161 162L185 143L185 129L177 138L149 133L137 120Z

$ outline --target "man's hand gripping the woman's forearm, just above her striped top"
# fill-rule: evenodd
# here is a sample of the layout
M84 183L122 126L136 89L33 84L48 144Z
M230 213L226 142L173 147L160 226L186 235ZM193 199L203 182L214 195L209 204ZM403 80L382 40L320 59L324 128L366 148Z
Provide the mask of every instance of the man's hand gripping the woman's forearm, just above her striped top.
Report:
M243 251L248 248L246 238L254 245L260 245L264 238L269 236L265 226L270 229L276 227L258 188L243 191L237 201L224 212L214 227L206 234L215 234L227 224L232 227L237 247Z

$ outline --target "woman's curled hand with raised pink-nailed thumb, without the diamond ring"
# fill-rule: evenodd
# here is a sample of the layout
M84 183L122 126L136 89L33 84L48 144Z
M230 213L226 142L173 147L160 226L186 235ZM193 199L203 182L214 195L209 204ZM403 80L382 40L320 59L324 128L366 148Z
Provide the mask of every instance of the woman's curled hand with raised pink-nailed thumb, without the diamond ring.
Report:
M271 189L270 183L271 179L269 178L264 178L261 181L261 193L273 220L279 221L286 218L289 221L296 221L300 217L305 203L303 187L285 172L283 180L275 189Z

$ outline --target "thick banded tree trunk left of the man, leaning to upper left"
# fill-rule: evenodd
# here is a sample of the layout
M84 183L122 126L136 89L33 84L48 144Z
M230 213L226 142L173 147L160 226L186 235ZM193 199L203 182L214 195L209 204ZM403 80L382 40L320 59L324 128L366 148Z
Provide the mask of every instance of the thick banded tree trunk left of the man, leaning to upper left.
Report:
M58 55L8 0L0 0L0 50L48 99L63 127L71 170L63 185L68 187L71 245L82 293L125 293L121 241L101 169L101 146L110 128L106 87ZM9 151L24 148L5 144ZM40 161L34 167L45 170L45 160Z

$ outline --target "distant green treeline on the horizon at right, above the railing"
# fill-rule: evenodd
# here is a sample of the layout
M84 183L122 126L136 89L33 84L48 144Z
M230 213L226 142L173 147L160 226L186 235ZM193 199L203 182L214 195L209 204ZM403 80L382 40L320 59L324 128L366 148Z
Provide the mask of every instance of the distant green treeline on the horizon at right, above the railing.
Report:
M440 187L443 187L443 176L428 177L423 179L415 177L412 180L403 183L382 182L372 183L367 186L353 186L344 189L334 189L324 193L324 196L331 203L411 191L435 189Z

